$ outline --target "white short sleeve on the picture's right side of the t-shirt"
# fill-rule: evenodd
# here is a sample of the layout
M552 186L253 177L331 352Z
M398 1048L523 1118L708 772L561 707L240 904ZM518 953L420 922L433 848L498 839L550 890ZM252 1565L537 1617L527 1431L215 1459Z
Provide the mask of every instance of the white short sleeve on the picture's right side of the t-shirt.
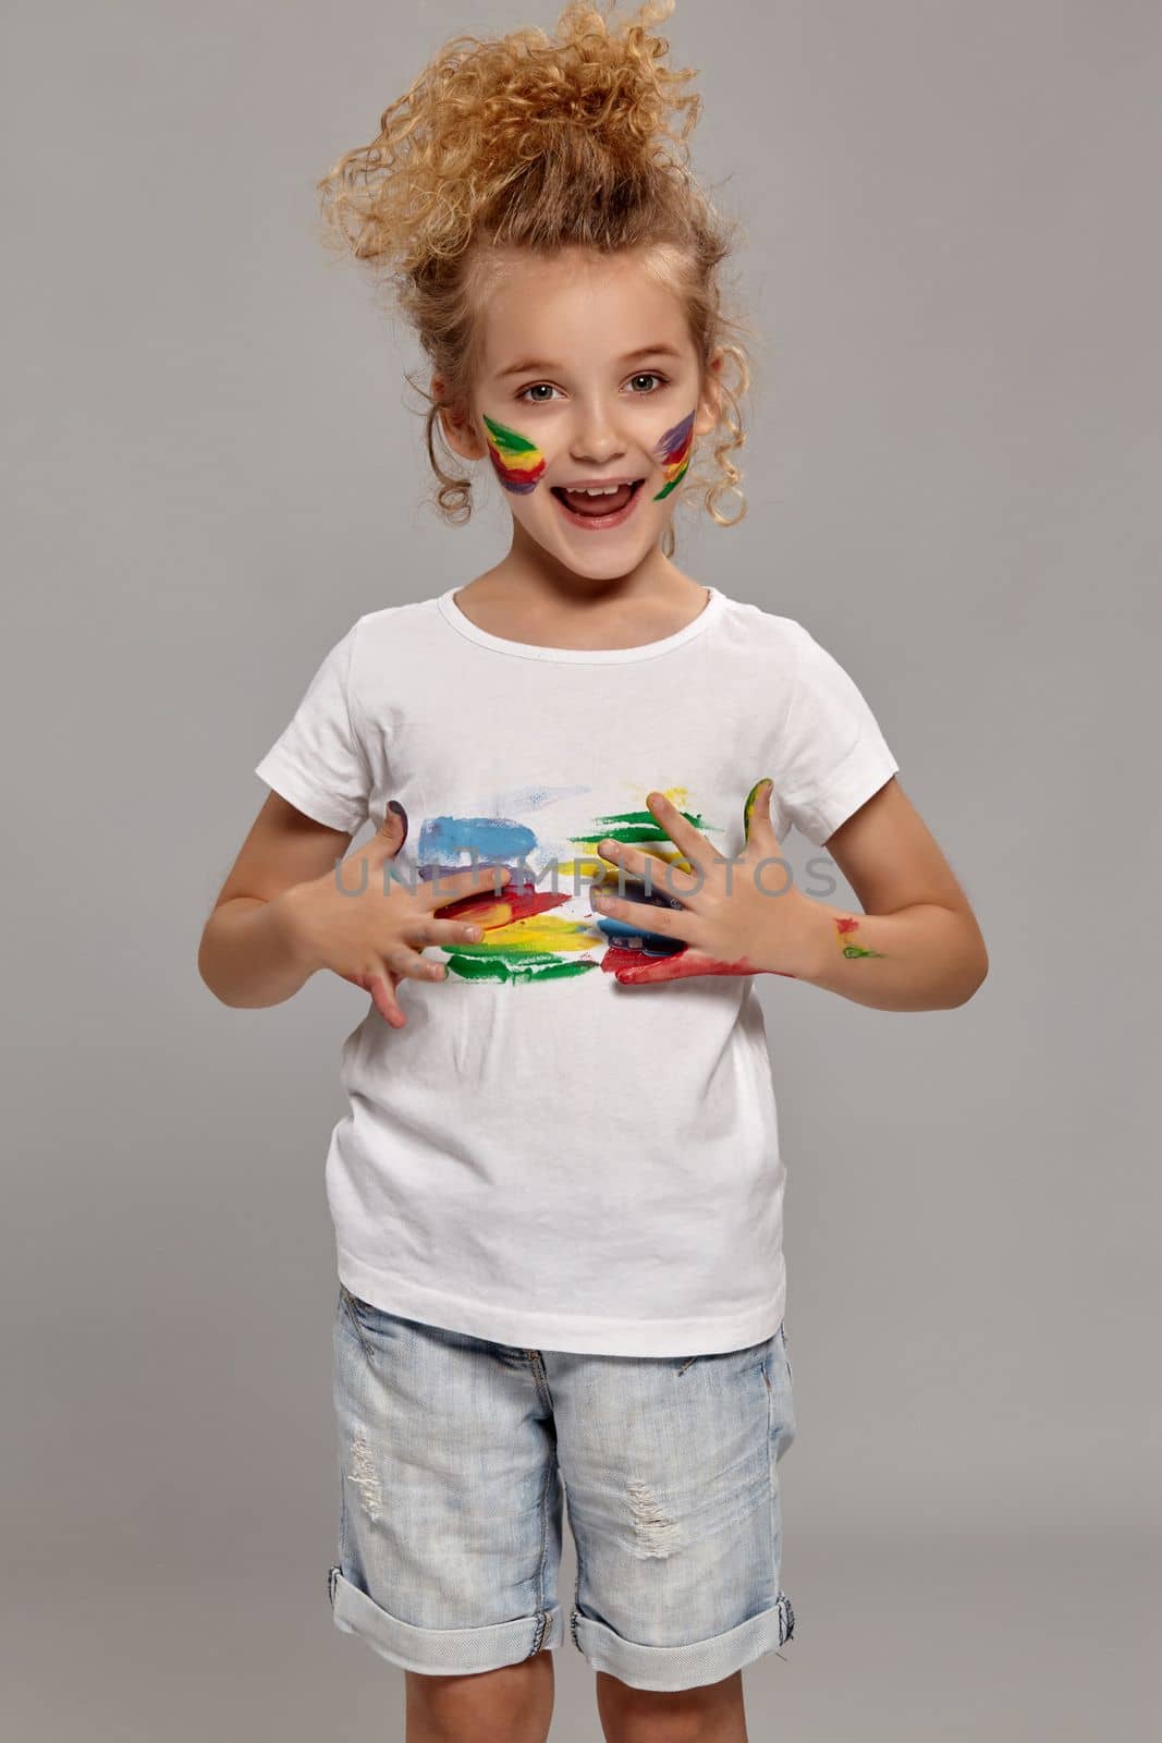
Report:
M775 805L815 847L897 770L855 682L801 624L791 701L772 769Z

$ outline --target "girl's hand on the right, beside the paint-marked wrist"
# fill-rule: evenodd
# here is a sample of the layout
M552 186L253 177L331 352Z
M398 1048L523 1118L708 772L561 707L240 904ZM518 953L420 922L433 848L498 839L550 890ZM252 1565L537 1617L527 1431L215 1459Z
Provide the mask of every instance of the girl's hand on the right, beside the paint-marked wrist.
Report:
M810 898L794 885L791 866L779 852L770 817L770 779L758 781L746 797L746 849L725 859L662 793L646 795L646 805L693 873L665 865L652 854L620 842L598 842L598 852L624 866L650 887L674 896L681 908L627 901L589 891L596 913L681 939L685 950L646 957L641 966L617 971L618 981L685 980L690 974L789 974L805 978L819 955L819 915Z

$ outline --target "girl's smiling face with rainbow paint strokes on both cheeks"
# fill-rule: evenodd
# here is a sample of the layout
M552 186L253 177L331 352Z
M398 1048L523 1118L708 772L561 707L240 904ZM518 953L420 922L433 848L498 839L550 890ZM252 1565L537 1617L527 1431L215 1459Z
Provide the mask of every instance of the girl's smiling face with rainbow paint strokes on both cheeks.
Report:
M448 439L491 462L514 547L617 579L657 547L716 422L681 303L634 254L502 260L474 415L444 420ZM584 486L603 493L568 495Z

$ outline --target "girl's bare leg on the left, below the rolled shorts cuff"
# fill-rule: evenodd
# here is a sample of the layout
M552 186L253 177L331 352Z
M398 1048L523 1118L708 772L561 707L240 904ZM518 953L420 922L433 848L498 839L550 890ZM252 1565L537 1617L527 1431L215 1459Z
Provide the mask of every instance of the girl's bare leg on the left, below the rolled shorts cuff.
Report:
M545 1743L552 1652L467 1677L406 1670L408 1743Z

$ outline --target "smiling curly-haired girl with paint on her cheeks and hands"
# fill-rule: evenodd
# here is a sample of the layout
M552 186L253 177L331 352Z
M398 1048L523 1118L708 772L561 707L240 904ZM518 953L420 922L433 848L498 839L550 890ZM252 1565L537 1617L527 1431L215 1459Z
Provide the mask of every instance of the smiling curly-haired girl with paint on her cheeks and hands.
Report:
M671 560L700 455L730 525L747 385L671 5L455 38L322 183L430 357L441 511L491 471L512 542L326 654L200 950L230 1006L369 994L326 1163L329 1597L404 1668L411 1740L544 1740L566 1637L606 1738L746 1738L742 1666L794 1623L754 978L916 1011L986 973L852 678ZM794 887L791 824L862 912Z

